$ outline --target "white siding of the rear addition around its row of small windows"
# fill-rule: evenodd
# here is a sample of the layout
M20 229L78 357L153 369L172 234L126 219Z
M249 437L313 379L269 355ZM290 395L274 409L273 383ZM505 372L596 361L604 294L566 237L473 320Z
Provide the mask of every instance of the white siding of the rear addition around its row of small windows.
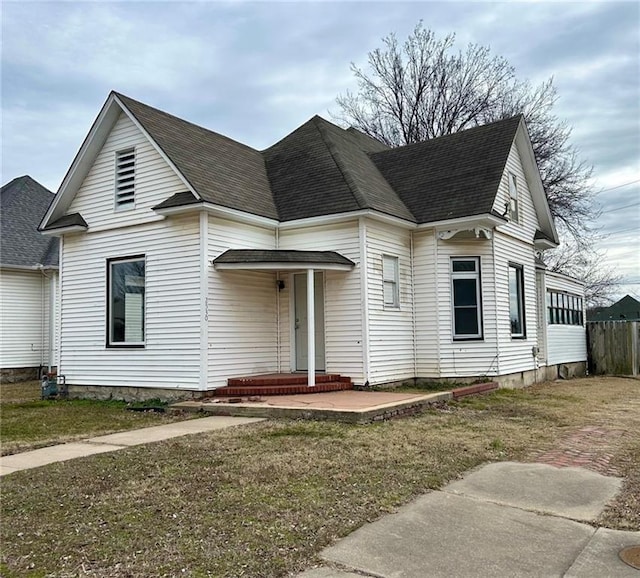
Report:
M584 308L584 285L579 281L575 281L564 275L554 273L545 274L545 283L547 289L552 291L565 291L573 293L583 298ZM545 319L546 312L546 296L545 298ZM586 314L583 309L583 318ZM571 363L574 361L586 361L587 359L587 334L586 328L582 325L547 325L547 340L549 354L547 356L547 365L556 365L558 363Z

